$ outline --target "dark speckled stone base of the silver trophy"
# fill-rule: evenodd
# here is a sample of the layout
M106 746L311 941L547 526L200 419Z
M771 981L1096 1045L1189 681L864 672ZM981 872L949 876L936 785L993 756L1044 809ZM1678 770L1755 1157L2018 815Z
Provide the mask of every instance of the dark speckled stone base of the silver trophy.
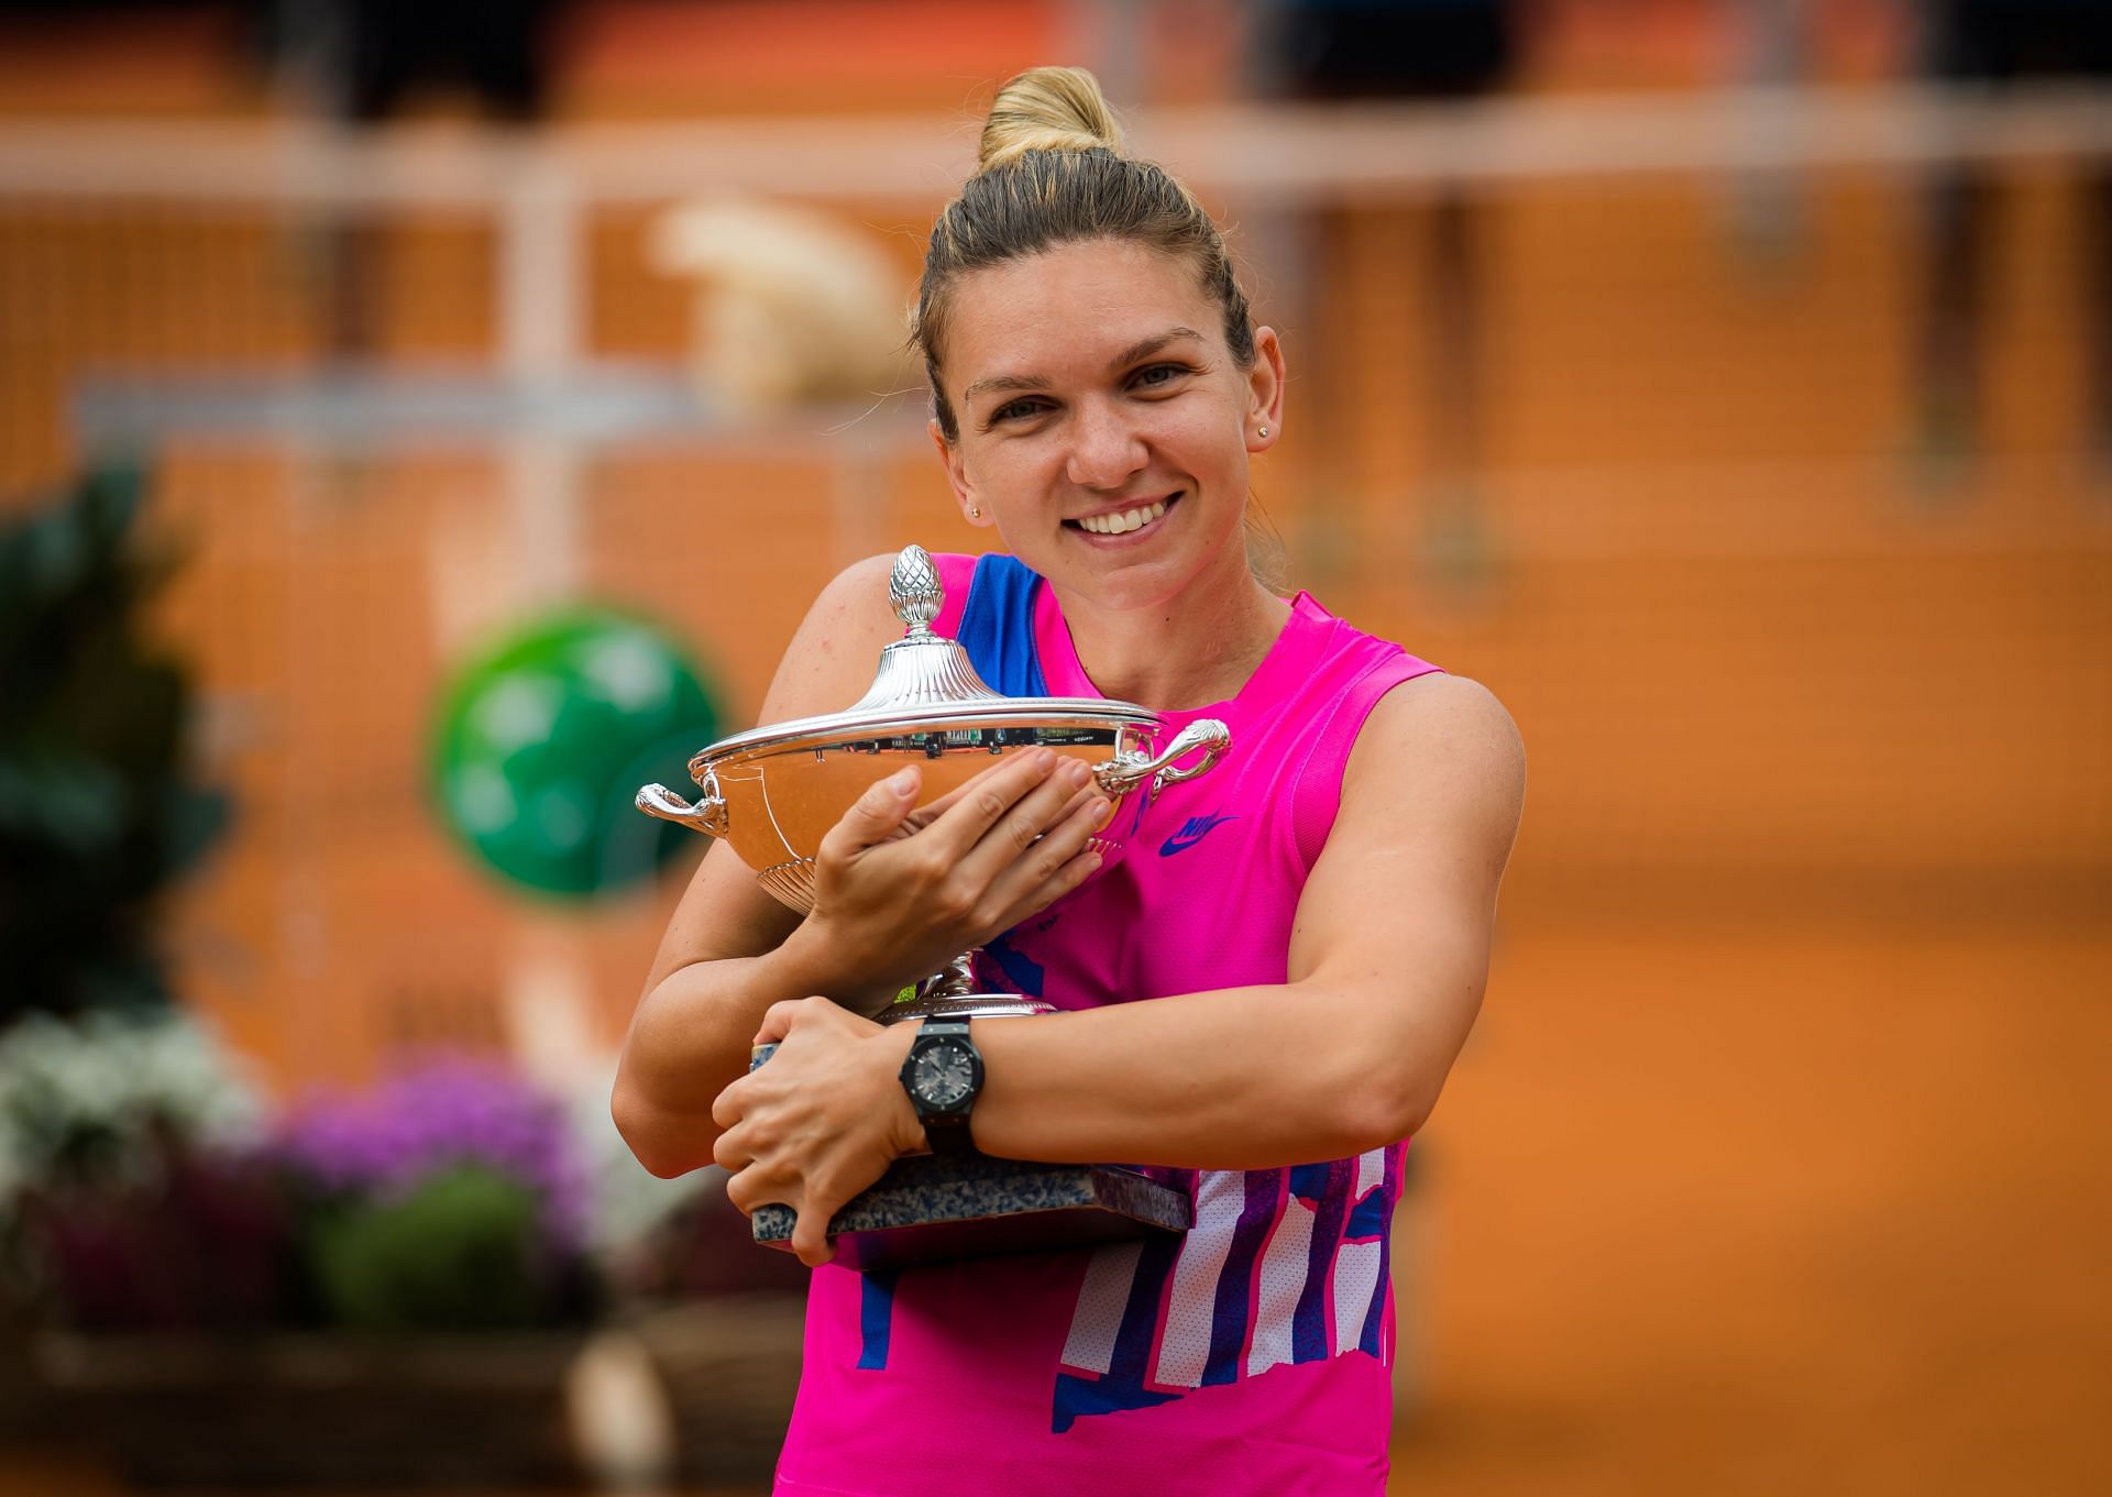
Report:
M756 1242L792 1250L792 1210L758 1206ZM1022 1163L988 1155L895 1159L836 1212L836 1263L898 1269L995 1252L1081 1248L1183 1233L1195 1201L1178 1187L1109 1163Z

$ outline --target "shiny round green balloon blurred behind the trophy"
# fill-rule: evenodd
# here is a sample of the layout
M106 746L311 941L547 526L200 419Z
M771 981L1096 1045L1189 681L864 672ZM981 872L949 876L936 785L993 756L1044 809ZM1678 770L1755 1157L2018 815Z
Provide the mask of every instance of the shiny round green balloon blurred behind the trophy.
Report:
M697 834L638 811L689 783L718 709L661 629L602 608L536 619L448 682L433 735L441 819L517 885L589 897L634 885Z

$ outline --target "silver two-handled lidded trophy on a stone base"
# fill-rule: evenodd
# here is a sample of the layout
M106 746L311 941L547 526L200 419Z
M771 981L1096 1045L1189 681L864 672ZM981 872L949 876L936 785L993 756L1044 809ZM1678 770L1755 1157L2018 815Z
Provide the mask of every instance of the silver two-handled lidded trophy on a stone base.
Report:
M1155 712L1100 697L1003 697L984 684L957 640L931 631L944 591L923 547L906 547L887 579L887 598L906 625L881 650L879 674L845 712L798 718L712 743L689 762L703 790L695 802L665 785L644 785L638 809L724 838L781 904L813 910L813 859L822 838L876 779L906 762L923 771L931 802L988 769L993 758L1050 747L1083 760L1119 813L1126 796L1193 779L1231 747L1223 722L1198 720L1168 733ZM1092 838L1102 866L1119 851L1111 815ZM1010 992L978 992L976 952L904 988L881 1013L917 1018L1010 1018L1052 1005ZM756 1064L767 1060L762 1047ZM1107 1242L1183 1231L1193 1220L1187 1191L1119 1166L1043 1166L984 1155L898 1159L887 1176L830 1223L838 1261L891 1267L942 1256ZM756 1239L790 1246L792 1212L765 1206Z

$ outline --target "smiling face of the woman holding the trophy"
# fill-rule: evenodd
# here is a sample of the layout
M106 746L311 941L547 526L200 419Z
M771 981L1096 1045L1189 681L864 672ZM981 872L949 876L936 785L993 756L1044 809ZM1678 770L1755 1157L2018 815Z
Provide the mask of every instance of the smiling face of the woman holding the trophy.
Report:
M1107 608L1244 572L1248 454L1282 431L1276 334L1255 350L1242 369L1193 268L1128 241L963 277L940 374L959 439L931 422L961 509Z

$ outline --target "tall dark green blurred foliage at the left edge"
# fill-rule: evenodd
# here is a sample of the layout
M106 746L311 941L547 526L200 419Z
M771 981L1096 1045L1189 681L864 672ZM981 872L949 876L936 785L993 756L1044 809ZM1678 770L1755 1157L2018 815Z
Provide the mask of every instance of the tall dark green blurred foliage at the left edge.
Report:
M154 897L220 836L190 783L190 686L139 629L137 471L93 473L0 526L0 1028L25 1011L154 1009Z

